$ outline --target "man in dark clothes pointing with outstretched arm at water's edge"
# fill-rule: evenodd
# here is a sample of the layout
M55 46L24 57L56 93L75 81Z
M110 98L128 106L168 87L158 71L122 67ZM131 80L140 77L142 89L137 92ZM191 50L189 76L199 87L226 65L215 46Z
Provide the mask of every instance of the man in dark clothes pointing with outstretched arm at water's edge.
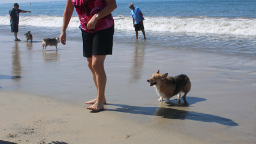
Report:
M20 41L18 38L18 32L19 32L19 16L21 13L31 12L31 11L25 11L19 9L19 4L14 3L13 8L9 11L10 14L10 22L11 22L11 29L12 33L14 33L15 39L14 41Z

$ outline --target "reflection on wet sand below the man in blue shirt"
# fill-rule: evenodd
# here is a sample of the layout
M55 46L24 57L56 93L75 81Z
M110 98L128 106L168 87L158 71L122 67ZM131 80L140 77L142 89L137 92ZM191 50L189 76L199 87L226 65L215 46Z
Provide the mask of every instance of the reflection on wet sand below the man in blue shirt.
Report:
M135 42L135 50L132 62L132 81L138 81L141 77L141 71L144 63L145 44Z

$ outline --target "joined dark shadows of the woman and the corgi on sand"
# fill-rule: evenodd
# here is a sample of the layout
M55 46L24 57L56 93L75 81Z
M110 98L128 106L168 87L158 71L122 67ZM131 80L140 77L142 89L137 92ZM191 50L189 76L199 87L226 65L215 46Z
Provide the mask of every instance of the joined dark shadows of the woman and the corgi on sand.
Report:
M208 123L219 123L222 125L228 126L237 126L238 124L232 121L231 119L210 115L210 114L203 114L198 113L195 111L186 111L186 110L179 110L174 108L168 107L188 107L196 102L205 101L206 99L197 98L197 97L187 97L186 102L172 102L166 103L167 107L139 107L139 106L129 106L129 105L121 105L121 104L108 104L111 106L117 106L116 109L104 109L109 111L118 111L122 113L130 113L130 114L141 114L141 115L155 115L161 116L163 118L169 119L190 119L194 121L201 121L201 122L208 122ZM181 100L182 101L182 100Z

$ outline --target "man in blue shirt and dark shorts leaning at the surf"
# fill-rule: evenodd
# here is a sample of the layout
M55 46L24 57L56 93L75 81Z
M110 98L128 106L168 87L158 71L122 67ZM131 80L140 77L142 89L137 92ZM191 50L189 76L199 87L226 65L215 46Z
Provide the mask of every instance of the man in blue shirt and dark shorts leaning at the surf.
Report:
M144 25L143 25L143 17L142 13L139 7L134 7L132 3L129 4L129 7L131 9L131 15L132 15L132 21L133 21L133 27L135 28L135 34L136 39L138 39L138 31L141 30L142 34L144 36L144 39L146 39L145 31L144 31Z

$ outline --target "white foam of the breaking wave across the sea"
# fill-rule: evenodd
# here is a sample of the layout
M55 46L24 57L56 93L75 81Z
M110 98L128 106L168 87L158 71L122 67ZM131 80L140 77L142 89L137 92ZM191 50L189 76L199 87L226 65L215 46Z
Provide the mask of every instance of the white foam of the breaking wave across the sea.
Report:
M132 18L119 15L114 17L115 28L133 30ZM62 17L41 15L32 17L20 16L19 25L34 27L61 27ZM0 25L10 25L8 16L0 16ZM72 17L70 28L80 25L78 17ZM174 33L209 33L256 36L255 18L223 17L145 17L145 30Z

